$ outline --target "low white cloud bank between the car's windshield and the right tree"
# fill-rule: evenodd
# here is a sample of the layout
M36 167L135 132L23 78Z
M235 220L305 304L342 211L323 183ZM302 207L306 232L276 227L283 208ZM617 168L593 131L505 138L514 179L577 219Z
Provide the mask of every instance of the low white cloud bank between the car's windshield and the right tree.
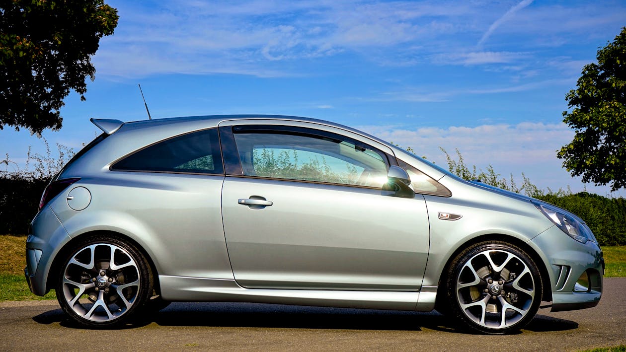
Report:
M580 180L570 178L561 167L562 160L556 156L557 150L572 141L574 136L572 129L562 123L524 122L415 129L360 126L359 129L386 141L393 141L403 148L411 147L419 156L426 156L443 168L447 168L446 158L439 147L446 149L454 158L455 149L458 148L468 166L476 165L485 170L491 165L503 178L510 178L512 173L518 183L521 183L521 173L524 173L531 182L544 189L565 189L568 185L572 186L573 191L583 189ZM607 190L597 191L603 194Z

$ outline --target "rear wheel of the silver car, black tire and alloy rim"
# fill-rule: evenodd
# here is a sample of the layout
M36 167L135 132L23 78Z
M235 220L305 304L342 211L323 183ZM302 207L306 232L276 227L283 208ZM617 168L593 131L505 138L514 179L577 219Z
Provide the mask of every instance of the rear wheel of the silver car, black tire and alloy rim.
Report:
M153 274L133 244L91 236L65 252L56 286L61 308L81 326L130 323L153 292Z

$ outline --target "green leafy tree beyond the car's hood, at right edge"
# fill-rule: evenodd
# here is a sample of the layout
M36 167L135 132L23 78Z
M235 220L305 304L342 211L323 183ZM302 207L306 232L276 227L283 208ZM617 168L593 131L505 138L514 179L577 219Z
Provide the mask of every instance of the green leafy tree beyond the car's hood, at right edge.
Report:
M572 176L616 191L626 186L626 27L598 50L597 61L565 96L573 109L563 111L563 122L576 134L557 156Z

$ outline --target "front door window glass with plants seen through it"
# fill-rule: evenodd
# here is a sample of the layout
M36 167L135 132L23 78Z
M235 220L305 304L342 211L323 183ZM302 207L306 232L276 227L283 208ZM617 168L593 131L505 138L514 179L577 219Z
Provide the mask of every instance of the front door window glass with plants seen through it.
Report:
M341 136L235 131L245 176L382 187L386 156Z

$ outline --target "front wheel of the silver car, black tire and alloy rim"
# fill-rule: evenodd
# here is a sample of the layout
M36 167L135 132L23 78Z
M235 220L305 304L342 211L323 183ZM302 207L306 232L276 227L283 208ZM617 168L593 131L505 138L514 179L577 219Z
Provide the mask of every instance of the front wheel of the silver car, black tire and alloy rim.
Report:
M541 303L541 276L523 249L501 241L474 244L453 259L446 278L450 316L485 334L518 331Z

